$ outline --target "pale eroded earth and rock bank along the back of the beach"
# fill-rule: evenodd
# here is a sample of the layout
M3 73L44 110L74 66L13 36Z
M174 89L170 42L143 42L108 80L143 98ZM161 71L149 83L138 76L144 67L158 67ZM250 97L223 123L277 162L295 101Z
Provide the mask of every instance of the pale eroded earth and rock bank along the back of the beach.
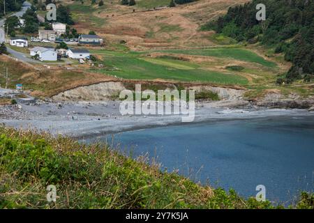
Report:
M172 85L174 86L174 85ZM117 100L119 93L127 89L124 82L103 82L100 84L92 84L89 86L80 86L63 93L59 93L52 97L57 101L103 101ZM167 87L165 87L166 89ZM195 85L188 86L186 89L200 91L212 91L217 93L220 100L227 100L228 103L233 102L234 107L269 107L269 108L287 108L287 109L313 109L314 98L301 98L297 94L283 95L280 92L269 92L261 98L248 100L244 93L244 89L232 89L221 86ZM227 104L227 105L229 105Z

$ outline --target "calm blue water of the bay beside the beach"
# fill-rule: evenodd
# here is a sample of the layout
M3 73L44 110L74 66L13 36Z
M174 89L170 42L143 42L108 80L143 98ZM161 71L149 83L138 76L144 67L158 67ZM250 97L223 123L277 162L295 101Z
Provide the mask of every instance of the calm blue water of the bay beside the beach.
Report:
M244 197L265 185L267 199L291 202L313 192L314 118L220 121L124 132L114 136L134 156L158 157L167 171Z

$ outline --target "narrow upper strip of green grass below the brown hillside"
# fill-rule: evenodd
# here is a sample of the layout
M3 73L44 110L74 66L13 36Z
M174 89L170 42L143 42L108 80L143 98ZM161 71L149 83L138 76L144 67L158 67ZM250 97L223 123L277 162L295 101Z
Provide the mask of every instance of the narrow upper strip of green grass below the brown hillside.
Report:
M262 66L275 68L276 63L267 61L262 56L258 56L248 49L241 49L239 47L218 47L210 49L166 49L158 52L174 53L174 54L188 54L197 56L215 56L219 58L235 59L238 61L246 61L251 63L258 63Z

